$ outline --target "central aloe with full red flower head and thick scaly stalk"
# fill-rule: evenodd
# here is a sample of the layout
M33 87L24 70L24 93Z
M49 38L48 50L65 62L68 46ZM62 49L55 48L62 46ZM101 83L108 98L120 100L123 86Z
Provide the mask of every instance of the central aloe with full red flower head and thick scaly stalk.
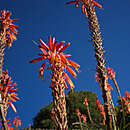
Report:
M64 54L63 51L70 45L65 41L57 42L55 37L51 38L49 35L48 45L40 39L41 44L37 45L41 52L38 54L40 57L30 61L30 63L44 61L39 69L39 77L44 80L44 69L48 65L48 69L51 70L51 89L54 102L53 119L55 121L57 129L68 129L67 127L67 114L66 114L66 101L64 89L68 89L67 84L71 89L74 88L74 84L67 71L76 78L77 74L72 67L78 71L80 65L76 62L67 59L71 57L69 54Z

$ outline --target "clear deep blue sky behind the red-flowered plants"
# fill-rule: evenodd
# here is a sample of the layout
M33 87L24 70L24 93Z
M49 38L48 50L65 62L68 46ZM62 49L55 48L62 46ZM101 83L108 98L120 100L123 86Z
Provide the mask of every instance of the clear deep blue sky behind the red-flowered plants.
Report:
M69 0L2 0L1 10L6 9L17 18L19 26L18 40L11 49L6 49L4 70L8 69L12 79L18 84L20 101L15 103L22 120L22 127L32 123L32 119L52 101L49 88L49 74L43 82L38 78L41 63L30 64L29 61L37 57L39 48L32 42L42 38L48 40L48 35L56 40L71 42L67 53L81 65L82 72L74 81L75 90L90 90L97 93L101 99L101 91L95 81L96 62L93 47L88 42L88 21L74 5L66 6ZM107 50L107 66L116 71L116 78L124 95L130 90L130 1L106 0L103 9L97 10L103 44ZM112 91L114 102L117 93ZM9 117L15 116L9 109Z

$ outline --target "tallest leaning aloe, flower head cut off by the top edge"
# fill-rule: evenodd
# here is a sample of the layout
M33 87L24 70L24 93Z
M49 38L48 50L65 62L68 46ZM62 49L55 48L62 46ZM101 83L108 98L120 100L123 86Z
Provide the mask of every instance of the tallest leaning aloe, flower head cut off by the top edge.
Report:
M111 98L111 93L108 91L108 78L107 78L107 70L104 59L104 51L101 39L100 26L98 23L98 18L95 11L95 6L102 8L100 4L98 4L94 0L75 0L67 2L67 4L75 3L75 6L78 7L81 4L81 11L88 17L89 30L91 35L91 42L95 51L95 58L97 61L96 72L98 75L98 83L100 85L103 100L104 100L104 108L106 113L106 127L107 129L116 129L115 121L116 116L114 114L114 106Z

